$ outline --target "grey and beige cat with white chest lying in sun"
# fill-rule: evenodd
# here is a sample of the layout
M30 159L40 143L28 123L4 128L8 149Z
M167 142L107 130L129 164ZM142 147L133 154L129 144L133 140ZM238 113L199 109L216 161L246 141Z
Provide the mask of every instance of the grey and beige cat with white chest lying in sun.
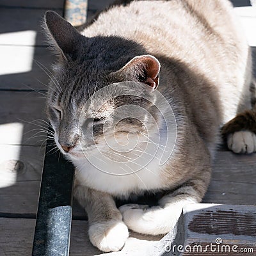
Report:
M122 249L128 228L175 230L207 191L221 131L256 151L250 47L228 1L118 1L80 33L48 11L45 31L58 56L47 116L99 250ZM164 195L116 207L147 192Z

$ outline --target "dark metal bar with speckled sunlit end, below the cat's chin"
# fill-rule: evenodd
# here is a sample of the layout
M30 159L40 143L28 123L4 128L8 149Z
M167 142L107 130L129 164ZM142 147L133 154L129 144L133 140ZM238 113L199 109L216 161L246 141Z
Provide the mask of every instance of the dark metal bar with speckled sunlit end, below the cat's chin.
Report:
M33 256L67 256L72 220L74 166L47 140L36 216Z

